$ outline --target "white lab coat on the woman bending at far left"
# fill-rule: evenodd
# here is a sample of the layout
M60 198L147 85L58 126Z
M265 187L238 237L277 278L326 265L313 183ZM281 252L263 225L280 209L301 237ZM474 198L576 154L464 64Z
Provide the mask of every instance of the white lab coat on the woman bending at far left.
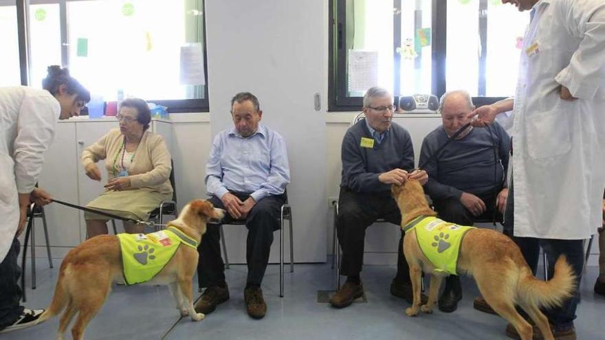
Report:
M0 261L19 225L17 192L34 190L60 113L48 91L0 87Z

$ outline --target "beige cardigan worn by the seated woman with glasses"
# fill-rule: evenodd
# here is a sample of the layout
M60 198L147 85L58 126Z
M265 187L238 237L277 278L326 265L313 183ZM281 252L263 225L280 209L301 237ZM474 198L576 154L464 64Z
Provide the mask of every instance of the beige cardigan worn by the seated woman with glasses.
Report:
M113 162L118 152L121 152L124 135L119 128L112 129L82 152L84 168L91 163L105 159L105 168L109 180L113 174ZM120 155L117 157L120 161ZM145 131L135 152L135 157L129 170L131 188L147 188L160 194L170 194L173 188L170 185L170 152L166 147L164 137L151 131Z

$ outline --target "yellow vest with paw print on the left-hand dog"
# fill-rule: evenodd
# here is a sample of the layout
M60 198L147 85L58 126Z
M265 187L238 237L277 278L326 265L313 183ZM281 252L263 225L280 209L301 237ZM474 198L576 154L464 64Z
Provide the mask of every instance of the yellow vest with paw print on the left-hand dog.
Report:
M124 281L138 284L157 275L179 249L181 244L197 249L197 241L175 227L151 234L118 234Z

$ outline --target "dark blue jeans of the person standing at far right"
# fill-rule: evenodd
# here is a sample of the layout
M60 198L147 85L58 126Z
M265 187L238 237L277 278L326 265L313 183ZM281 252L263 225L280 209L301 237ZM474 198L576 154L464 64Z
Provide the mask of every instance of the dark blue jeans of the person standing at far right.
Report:
M540 247L547 254L548 277L553 277L555 262L561 255L567 257L567 262L571 264L573 273L577 277L576 287L580 286L582 279L582 267L584 266L584 245L583 240L555 240L551 238L531 238L516 237L514 232L514 192L511 179L511 188L506 201L506 211L504 215L504 234L514 240L521 249L523 257L529 264L533 275L536 275L538 260L540 258ZM566 299L560 307L543 310L548 317L549 322L558 329L566 329L573 326L575 319L575 310L580 302L580 291L577 289L573 296Z

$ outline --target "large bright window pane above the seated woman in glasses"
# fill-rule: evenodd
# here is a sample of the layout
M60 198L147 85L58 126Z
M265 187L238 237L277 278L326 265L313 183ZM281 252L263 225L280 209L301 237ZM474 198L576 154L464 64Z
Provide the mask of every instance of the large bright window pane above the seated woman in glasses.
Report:
M201 0L69 1L72 73L104 100L203 98L202 8Z

